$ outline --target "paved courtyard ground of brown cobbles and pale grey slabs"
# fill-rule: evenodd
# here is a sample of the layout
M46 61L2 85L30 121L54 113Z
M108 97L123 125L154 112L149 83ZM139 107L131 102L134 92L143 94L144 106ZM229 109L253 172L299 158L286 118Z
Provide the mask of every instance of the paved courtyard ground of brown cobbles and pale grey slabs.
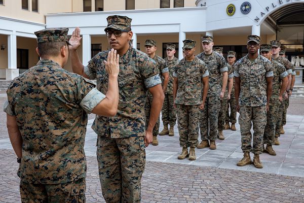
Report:
M0 92L0 105L5 95ZM142 202L304 202L304 115L288 115L277 156L263 153L262 169L236 166L243 156L240 130L224 130L225 140L217 149L197 149L197 160L178 160L178 130L175 136L159 136L159 146L146 148L146 168L142 178ZM291 108L292 109L292 108ZM96 160L96 134L89 116L85 151L88 162L87 202L104 202ZM0 202L20 202L18 164L0 113ZM160 130L163 126L161 125Z

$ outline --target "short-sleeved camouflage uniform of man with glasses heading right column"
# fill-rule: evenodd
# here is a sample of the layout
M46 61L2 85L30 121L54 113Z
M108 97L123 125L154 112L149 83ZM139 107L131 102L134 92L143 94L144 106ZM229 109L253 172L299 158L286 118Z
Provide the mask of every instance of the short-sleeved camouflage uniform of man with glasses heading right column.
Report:
M261 154L262 140L267 123L267 77L273 77L271 62L258 55L251 61L248 54L234 64L234 76L240 78L240 117L243 152ZM253 123L253 146L251 147L251 121Z

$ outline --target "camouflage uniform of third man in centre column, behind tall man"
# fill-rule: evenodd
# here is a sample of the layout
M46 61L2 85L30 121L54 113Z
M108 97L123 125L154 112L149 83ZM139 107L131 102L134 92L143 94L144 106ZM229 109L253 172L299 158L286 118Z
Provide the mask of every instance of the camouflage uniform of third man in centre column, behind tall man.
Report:
M232 67L229 63L226 63L226 65L228 68L228 79L227 80L229 80L229 79L233 78L233 71L232 71ZM223 77L221 76L221 86L222 86L222 80L223 80ZM221 130L221 131L225 129L226 110L227 110L227 106L228 106L227 96L228 96L228 82L227 82L224 98L220 98L220 111L218 113L218 130Z

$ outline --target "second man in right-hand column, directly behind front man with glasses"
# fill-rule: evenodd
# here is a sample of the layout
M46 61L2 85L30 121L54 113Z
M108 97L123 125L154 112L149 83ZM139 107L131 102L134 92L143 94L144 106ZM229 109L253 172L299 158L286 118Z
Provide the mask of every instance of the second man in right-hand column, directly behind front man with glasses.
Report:
M283 101L283 93L285 93L286 86L288 84L288 73L285 70L285 67L271 58L271 45L261 45L260 51L261 55L267 57L271 60L271 65L273 68L274 78L273 78L273 90L272 95L269 101L269 111L267 112L267 124L265 126L263 144L266 144L266 148L264 152L269 153L270 155L276 155L275 150L272 148L272 145L275 145L275 137L278 139L278 135L276 133L276 129L280 129L280 127L276 127L279 121L279 109L281 102ZM281 81L283 81L281 85ZM275 136L276 135L276 136Z

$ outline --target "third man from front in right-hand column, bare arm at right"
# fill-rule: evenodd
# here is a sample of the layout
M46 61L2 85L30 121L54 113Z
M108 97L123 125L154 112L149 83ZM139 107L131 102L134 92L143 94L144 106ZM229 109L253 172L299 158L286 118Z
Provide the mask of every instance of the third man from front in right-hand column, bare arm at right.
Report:
M286 113L287 113L287 108L289 106L289 96L292 93L292 88L294 85L294 81L295 81L295 70L294 70L294 66L292 65L292 63L285 57L280 56L280 51L281 51L281 42L277 41L277 40L273 40L270 42L271 46L272 46L272 58L275 61L278 61L279 63L281 63L282 65L284 65L287 73L288 73L288 85L286 87L286 92L284 94L284 103L282 103L282 107L283 111L282 111L282 119L281 119L281 126L280 126L280 134L284 134L284 128L283 126L286 124ZM275 145L280 145L280 142L278 140L278 138L276 138L275 140Z

